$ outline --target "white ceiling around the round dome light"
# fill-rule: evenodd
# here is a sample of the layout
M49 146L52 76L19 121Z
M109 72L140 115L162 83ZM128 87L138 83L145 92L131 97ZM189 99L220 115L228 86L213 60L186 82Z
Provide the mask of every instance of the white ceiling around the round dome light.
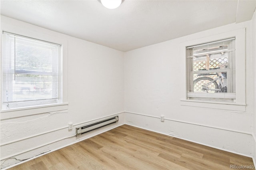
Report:
M256 0L1 0L1 15L130 51L226 24L251 20Z

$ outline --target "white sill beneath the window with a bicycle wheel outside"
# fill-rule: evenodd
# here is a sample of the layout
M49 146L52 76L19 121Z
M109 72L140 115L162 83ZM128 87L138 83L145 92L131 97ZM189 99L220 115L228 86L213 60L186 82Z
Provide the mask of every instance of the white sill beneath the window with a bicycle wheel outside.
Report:
M230 110L230 111L241 111L241 112L246 111L245 103L228 103L228 102L181 99L180 105L192 106L192 107L204 107L204 108L211 108L211 109L222 109L222 110Z

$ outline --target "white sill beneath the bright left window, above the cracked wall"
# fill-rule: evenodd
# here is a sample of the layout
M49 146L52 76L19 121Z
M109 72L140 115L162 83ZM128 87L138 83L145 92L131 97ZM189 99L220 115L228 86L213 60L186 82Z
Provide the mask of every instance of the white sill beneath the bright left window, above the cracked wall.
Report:
M14 117L22 117L36 115L40 113L48 113L54 111L63 111L68 109L68 103L57 103L50 105L38 105L33 107L20 107L15 109L3 109L0 111L1 120Z

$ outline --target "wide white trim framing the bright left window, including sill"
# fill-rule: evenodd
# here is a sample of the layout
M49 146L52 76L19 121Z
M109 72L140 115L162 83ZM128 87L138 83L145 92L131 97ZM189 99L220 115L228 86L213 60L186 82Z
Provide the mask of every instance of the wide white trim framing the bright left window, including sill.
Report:
M36 28L35 28L36 27ZM28 107L19 107L13 109L5 109L0 105L1 120L11 119L15 117L23 117L28 115L36 115L41 113L51 113L56 111L64 111L68 109L68 50L67 50L67 39L60 33L52 32L50 30L45 30L37 26L26 26L17 25L14 26L8 23L1 22L1 33L2 32L12 32L13 34L18 34L38 40L43 40L46 42L52 42L56 44L61 44L60 46L60 70L62 70L62 76L60 76L60 86L59 86L59 97L58 103L46 104L46 105L36 105ZM1 49L2 49L2 34L1 38ZM1 50L2 51L2 50ZM0 59L0 64L2 65L2 56ZM0 70L1 75L1 90L2 90L2 69ZM2 95L0 96L0 101L2 103Z

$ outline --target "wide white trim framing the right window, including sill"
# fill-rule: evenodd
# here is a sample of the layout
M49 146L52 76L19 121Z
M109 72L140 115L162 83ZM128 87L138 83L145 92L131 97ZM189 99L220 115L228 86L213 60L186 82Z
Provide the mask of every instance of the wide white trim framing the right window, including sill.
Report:
M187 70L186 70L186 47L214 42L218 40L236 38L236 100L233 102L226 101L210 101L210 100L194 100L187 98ZM205 36L203 38L198 38L195 40L190 40L187 42L180 43L180 56L182 62L180 67L182 68L182 89L184 89L180 105L192 106L192 107L205 107L205 108L214 108L214 109L224 109L224 110L233 110L233 111L245 111L246 110L246 98L245 98L245 28L234 30L230 32L225 32L221 34L216 34L213 36ZM238 63L239 66L238 67Z

